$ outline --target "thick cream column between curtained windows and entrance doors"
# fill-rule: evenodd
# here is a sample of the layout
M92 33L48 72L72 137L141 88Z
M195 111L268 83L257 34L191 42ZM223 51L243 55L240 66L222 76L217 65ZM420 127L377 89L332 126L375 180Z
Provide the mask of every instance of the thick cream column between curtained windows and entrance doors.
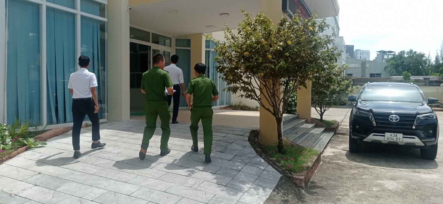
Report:
M108 120L129 119L129 2L108 0Z

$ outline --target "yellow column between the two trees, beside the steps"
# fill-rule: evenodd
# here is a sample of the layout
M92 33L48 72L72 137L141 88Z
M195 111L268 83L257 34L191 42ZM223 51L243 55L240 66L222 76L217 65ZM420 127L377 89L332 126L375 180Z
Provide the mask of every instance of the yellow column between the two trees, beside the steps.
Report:
M306 118L311 122L311 81L306 81L307 88L301 87L297 90L297 114L300 118Z

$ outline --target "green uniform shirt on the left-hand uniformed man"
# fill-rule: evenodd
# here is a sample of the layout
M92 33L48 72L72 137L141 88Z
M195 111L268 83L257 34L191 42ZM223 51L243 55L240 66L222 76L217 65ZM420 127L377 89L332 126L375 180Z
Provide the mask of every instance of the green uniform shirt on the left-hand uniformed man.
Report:
M153 67L141 77L141 89L146 92L147 101L167 100L165 87L172 86L168 72L159 67Z

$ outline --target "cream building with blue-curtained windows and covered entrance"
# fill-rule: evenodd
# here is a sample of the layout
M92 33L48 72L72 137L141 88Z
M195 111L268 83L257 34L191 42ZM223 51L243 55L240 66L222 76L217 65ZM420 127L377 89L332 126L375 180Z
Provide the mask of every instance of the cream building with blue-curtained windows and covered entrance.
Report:
M252 15L261 10L275 23L297 11L319 18L339 11L337 0L0 0L6 17L0 20L0 122L72 125L67 83L80 55L89 56L89 71L97 76L101 121L127 120L140 111L140 76L155 53L179 55L185 88L195 77L194 64L205 63L220 92L214 106L229 104L238 97L222 91L226 83L214 69L217 53L205 34L222 40L224 23L236 28L244 19L241 8ZM311 118L310 83L299 92L299 115ZM260 124L276 130L270 113L260 115Z

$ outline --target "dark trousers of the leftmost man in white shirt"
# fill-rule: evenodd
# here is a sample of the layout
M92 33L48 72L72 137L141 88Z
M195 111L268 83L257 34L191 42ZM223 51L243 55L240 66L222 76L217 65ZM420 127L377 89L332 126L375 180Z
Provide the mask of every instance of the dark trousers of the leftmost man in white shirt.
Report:
M85 115L88 115L92 123L92 140L100 140L100 119L98 113L94 113L95 107L92 98L73 98L72 99L72 146L74 150L80 150L80 130L82 129Z

